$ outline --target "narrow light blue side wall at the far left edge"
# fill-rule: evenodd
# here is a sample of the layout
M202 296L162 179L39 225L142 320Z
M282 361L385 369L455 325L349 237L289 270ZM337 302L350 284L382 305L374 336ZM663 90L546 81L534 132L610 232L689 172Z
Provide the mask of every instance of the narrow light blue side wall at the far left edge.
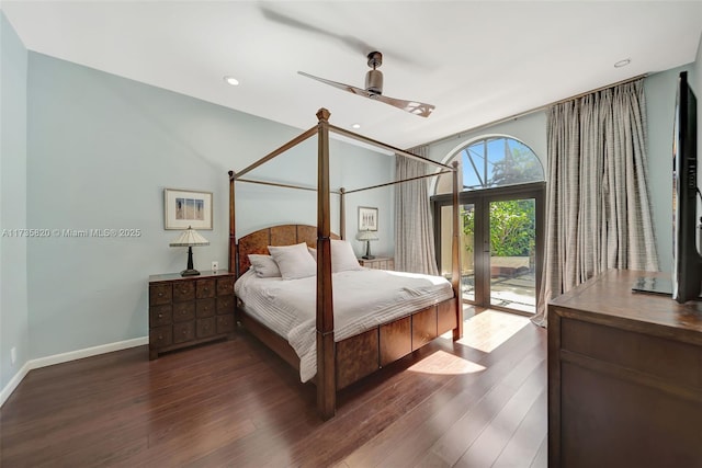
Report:
M13 237L26 227L26 48L0 11L0 389L30 352L27 242Z

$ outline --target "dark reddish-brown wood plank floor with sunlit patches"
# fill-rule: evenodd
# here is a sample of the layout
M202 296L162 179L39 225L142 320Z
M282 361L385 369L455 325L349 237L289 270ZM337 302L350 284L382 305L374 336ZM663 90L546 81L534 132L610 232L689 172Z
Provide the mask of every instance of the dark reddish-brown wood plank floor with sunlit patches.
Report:
M546 467L546 333L484 311L343 390L315 390L246 333L29 373L0 410L1 467Z

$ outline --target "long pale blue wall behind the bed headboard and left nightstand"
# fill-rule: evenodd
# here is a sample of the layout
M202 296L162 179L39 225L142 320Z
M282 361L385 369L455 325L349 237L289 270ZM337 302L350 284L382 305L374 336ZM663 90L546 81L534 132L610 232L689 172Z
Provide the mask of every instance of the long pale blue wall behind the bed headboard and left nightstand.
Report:
M213 192L214 229L201 232L211 244L194 248L195 269L210 270L213 260L224 266L227 171L244 169L301 133L35 53L27 92L27 226L141 232L29 241L31 358L145 336L149 274L180 271L186 260L185 249L168 246L178 231L163 229L163 189ZM315 124L310 115L309 126ZM308 149L286 155L269 172L314 183L316 164L306 162L316 144ZM370 150L339 141L332 150L332 186L385 182L392 172L392 161ZM363 204L386 213L392 206L388 192L364 196ZM237 208L239 235L284 221L316 224L314 193L242 185ZM349 232L355 232L354 202L347 213ZM354 247L362 251L360 242Z

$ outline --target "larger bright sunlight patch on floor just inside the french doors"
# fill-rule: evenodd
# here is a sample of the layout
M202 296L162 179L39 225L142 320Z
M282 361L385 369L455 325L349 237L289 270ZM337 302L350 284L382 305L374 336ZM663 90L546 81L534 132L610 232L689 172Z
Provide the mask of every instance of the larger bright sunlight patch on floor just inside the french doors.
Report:
M464 321L463 338L457 342L490 353L528 323L528 317L488 309Z

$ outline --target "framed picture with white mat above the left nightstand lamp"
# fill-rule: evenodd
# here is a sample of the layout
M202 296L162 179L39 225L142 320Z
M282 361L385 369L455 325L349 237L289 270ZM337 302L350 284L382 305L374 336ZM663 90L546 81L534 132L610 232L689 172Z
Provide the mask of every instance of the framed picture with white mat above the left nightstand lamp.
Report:
M166 229L212 229L212 192L163 189Z

